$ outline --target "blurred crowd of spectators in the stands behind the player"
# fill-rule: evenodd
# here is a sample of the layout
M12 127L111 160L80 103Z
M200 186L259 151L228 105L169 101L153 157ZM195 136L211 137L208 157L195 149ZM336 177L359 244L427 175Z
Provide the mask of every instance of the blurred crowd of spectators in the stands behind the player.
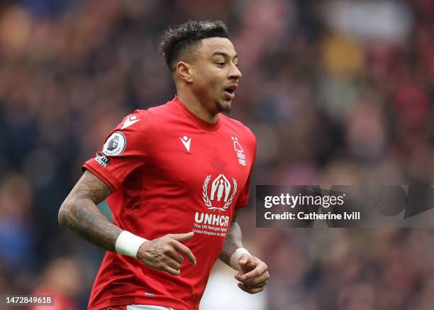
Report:
M272 275L250 296L216 264L201 309L433 309L432 229L255 228L254 206L255 184L434 184L432 0L1 0L0 294L86 308L103 251L57 211L123 116L172 99L157 43L189 19L225 21L240 57L240 224Z

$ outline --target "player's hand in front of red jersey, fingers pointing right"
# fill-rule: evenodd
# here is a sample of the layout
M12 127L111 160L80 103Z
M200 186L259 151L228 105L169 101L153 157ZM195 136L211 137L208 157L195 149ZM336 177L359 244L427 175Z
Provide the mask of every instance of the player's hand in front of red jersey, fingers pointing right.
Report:
M138 260L142 261L150 268L167 272L170 275L179 275L181 273L181 264L184 258L181 254L187 256L192 265L196 265L196 258L187 246L183 245L194 233L177 233L169 234L149 240L140 245L137 253Z

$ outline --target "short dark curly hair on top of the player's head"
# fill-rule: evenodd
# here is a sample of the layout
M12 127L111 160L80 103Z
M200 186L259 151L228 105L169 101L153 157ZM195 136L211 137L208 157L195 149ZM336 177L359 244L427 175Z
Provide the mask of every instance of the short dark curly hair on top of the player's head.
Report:
M178 28L167 29L158 49L170 71L174 72L183 52L202 39L214 37L229 38L228 27L223 21L188 21Z

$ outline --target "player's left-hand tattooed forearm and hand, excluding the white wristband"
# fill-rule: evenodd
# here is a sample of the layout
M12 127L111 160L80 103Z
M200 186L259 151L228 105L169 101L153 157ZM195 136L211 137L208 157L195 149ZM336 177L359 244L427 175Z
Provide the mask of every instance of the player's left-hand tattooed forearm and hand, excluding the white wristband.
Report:
M84 240L106 250L115 251L116 239L122 229L113 225L96 206L111 194L111 189L98 177L86 170L75 184L59 210L60 226L67 227ZM137 258L148 267L179 275L181 264L187 256L191 264L196 258L182 242L193 237L193 233L168 234L142 243Z

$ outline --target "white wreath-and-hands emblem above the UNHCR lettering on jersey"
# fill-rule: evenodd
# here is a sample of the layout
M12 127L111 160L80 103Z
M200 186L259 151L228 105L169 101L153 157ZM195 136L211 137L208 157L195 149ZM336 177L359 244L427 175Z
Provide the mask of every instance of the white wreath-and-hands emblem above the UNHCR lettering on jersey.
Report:
M226 211L237 193L237 180L232 178L231 183L220 174L211 181L211 175L208 175L202 189L202 199L209 210Z

